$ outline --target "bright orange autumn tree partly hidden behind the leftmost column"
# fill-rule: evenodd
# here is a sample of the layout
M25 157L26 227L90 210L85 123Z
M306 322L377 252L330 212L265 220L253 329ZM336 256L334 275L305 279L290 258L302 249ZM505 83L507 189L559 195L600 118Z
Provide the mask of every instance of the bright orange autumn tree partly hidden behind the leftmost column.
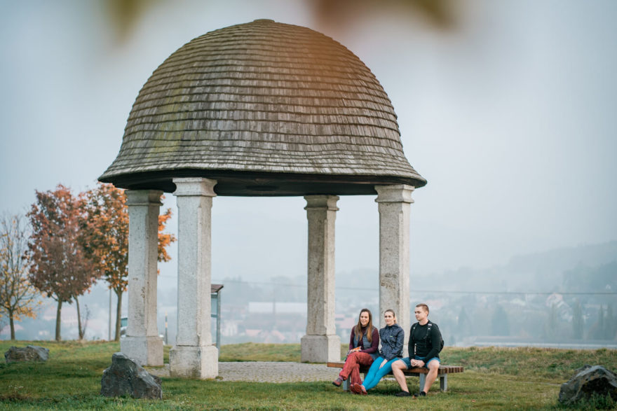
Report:
M115 340L120 340L122 294L128 286L128 209L124 190L112 184L97 184L86 193L86 214L82 225L84 249L118 297ZM175 236L165 233L171 209L158 216L158 260L169 261L167 247Z

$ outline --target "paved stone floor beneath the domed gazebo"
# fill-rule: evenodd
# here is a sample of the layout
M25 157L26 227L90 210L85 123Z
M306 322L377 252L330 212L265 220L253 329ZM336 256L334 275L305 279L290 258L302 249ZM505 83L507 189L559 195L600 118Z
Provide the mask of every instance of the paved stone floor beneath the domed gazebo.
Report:
M339 371L339 368L328 368L325 364L261 361L219 363L219 379L222 381L334 381ZM169 377L169 364L165 364L163 368L148 368L148 372L159 377Z

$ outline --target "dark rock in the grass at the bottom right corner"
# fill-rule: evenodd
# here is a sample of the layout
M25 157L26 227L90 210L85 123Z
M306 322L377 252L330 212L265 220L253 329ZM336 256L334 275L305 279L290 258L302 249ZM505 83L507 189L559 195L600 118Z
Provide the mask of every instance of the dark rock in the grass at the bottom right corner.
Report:
M562 384L559 400L564 405L572 405L578 400L589 398L593 393L601 396L608 393L613 400L617 400L617 375L602 365L578 368L574 377Z

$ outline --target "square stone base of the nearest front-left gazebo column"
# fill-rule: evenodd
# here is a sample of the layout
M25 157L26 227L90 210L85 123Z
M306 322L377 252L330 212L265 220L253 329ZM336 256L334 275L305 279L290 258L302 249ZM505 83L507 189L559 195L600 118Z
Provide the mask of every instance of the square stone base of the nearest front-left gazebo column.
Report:
M176 345L169 351L169 366L172 377L215 378L219 375L219 350L214 345Z

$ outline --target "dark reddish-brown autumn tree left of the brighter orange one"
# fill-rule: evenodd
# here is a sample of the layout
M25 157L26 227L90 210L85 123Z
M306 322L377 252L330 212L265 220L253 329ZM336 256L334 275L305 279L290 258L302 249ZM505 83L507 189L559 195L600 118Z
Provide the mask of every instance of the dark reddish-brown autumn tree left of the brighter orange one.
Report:
M58 184L54 191L36 191L36 202L27 214L29 281L43 295L57 301L55 340L60 335L63 302L76 302L79 336L83 337L79 295L90 291L97 277L95 265L83 249L81 225L86 219L82 195Z

